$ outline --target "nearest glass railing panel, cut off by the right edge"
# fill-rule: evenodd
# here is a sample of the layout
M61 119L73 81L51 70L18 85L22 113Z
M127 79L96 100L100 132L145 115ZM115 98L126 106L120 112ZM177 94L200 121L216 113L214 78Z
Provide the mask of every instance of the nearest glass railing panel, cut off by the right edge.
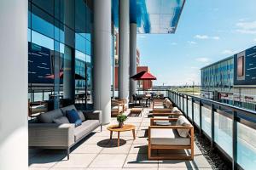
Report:
M255 169L256 130L237 123L237 163L243 169Z

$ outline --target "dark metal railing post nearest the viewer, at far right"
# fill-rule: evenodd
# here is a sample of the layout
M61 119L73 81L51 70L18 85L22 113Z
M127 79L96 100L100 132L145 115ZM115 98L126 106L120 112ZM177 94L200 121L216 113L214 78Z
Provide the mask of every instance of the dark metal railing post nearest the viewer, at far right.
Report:
M232 160L232 169L237 169L237 112L233 111L233 130L232 130L232 138L233 138L233 160Z

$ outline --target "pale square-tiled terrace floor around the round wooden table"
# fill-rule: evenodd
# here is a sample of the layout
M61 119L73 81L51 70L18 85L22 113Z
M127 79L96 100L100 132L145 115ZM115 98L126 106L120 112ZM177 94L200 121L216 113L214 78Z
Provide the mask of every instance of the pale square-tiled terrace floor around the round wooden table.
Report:
M111 124L116 123L112 118ZM133 140L131 132L120 134L120 147L117 147L117 134L109 139L107 126L96 131L79 144L75 145L67 161L63 150L30 150L30 170L101 170L101 169L145 169L145 170L183 170L183 169L212 169L206 158L195 145L194 161L148 161L147 126L148 112L143 116L129 117L125 123L137 126L137 138ZM162 152L161 154L165 154ZM182 154L176 151L173 154Z

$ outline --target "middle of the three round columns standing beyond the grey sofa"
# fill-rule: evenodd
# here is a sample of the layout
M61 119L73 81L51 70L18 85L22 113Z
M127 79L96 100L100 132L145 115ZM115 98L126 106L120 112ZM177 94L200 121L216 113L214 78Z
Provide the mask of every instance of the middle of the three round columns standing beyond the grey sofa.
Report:
M119 99L129 97L129 1L119 0Z

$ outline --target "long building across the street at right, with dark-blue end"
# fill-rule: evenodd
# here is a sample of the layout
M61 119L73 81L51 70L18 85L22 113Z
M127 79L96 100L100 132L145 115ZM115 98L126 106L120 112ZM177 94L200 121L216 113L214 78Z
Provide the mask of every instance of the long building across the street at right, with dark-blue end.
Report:
M201 97L256 110L256 46L201 69Z

